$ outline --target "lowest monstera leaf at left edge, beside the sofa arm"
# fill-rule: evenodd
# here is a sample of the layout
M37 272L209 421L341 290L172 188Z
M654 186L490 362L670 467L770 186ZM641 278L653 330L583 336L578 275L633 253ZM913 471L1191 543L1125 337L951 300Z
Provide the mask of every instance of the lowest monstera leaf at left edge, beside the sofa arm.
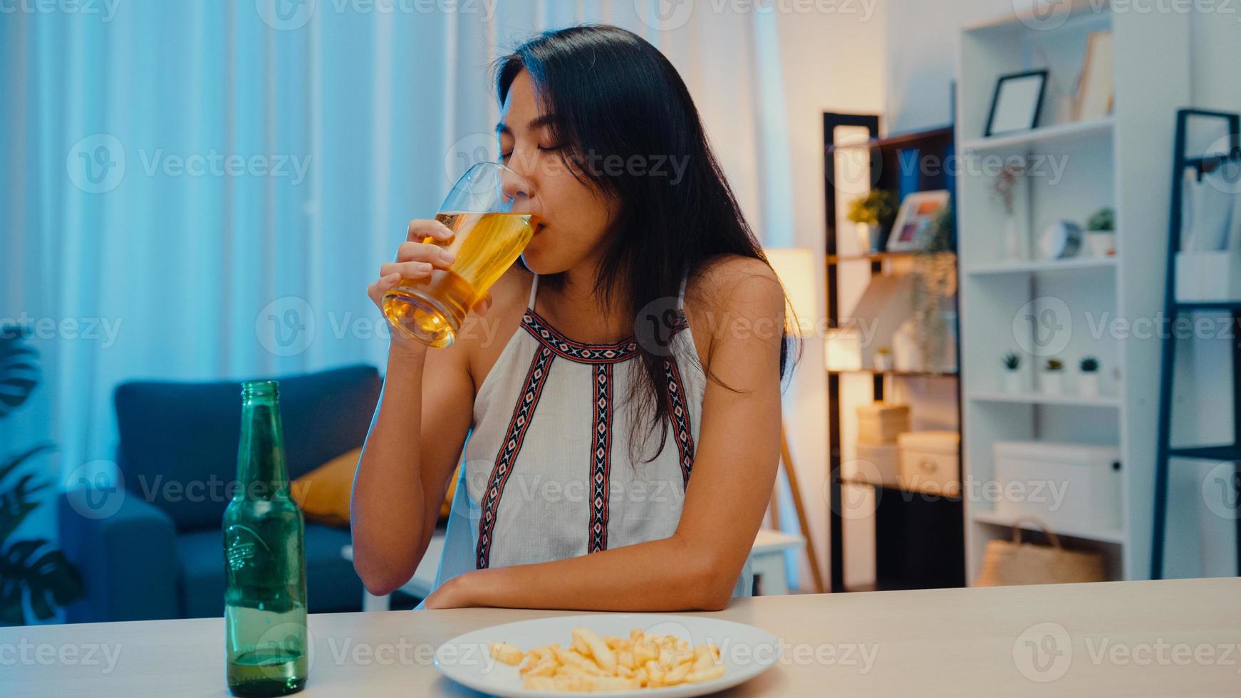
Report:
M82 594L82 580L65 553L51 548L48 541L19 541L0 554L0 625L25 622L24 591L29 591L35 617L47 620L57 605Z

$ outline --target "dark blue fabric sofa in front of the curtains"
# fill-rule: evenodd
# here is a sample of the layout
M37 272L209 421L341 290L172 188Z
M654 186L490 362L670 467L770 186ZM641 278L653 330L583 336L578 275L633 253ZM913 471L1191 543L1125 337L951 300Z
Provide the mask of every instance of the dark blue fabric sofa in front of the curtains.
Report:
M362 445L380 394L375 367L277 379L290 480ZM67 620L223 615L221 518L237 476L240 382L129 382L114 403L124 488L107 516L83 510L81 496L58 503L61 547L86 586ZM311 612L360 610L362 583L340 557L349 542L347 529L307 523Z

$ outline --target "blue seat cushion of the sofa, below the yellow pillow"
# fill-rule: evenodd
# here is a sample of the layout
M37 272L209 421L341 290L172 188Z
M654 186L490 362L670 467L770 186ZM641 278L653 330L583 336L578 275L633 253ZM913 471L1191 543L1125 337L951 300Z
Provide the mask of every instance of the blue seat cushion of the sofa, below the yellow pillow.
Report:
M307 605L313 614L357 611L362 581L354 564L340 555L350 543L349 531L308 523L305 528ZM225 614L223 534L195 531L176 538L180 568L181 616L218 617Z

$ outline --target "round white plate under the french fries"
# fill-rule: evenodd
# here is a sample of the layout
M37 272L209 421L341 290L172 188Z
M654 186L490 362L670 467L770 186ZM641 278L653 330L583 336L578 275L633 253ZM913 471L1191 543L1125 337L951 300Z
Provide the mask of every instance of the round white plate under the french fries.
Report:
M517 667L493 660L489 647L491 642L509 642L522 652L552 642L567 647L573 640L570 631L575 627L588 627L601 636L618 637L629 637L630 629L640 627L648 635L675 635L694 646L710 642L720 648L724 676L715 681L638 691L609 691L604 693L608 698L704 696L750 681L779 660L776 636L740 622L661 614L594 614L524 620L458 635L436 650L436 667L457 683L483 693L514 698L565 698L575 693L522 688Z

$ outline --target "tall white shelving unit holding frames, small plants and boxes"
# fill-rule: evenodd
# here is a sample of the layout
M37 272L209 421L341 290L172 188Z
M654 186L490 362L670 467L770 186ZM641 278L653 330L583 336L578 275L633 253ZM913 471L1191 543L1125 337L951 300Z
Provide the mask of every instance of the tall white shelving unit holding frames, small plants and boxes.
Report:
M1159 342L1140 338L1134 321L1163 306L1169 208L1169 154L1175 110L1189 103L1188 14L1113 11L1078 0L1061 22L1010 15L961 35L957 154L961 268L963 481L965 567L972 583L988 541L1009 538L1013 522L994 513L970 484L994 481L994 444L1031 440L1109 445L1122 464L1119 529L1057 531L1065 543L1103 553L1116 579L1149 573ZM1061 121L1064 86L1081 71L1086 38L1113 37L1114 109L1103 119ZM1050 61L1050 63L1049 63ZM997 79L1046 68L1051 74L1039 126L984 138ZM1057 219L1085 223L1116 210L1114 257L1005 259L1008 214L993 195L988 162L1026 156L1042 167L1019 180L1018 222L1028 238ZM1033 249L1036 245L1031 244ZM1001 357L1023 358L1029 392L1004 391ZM1098 397L1080 397L1077 364L1101 362ZM1064 394L1039 389L1033 364L1065 364Z

